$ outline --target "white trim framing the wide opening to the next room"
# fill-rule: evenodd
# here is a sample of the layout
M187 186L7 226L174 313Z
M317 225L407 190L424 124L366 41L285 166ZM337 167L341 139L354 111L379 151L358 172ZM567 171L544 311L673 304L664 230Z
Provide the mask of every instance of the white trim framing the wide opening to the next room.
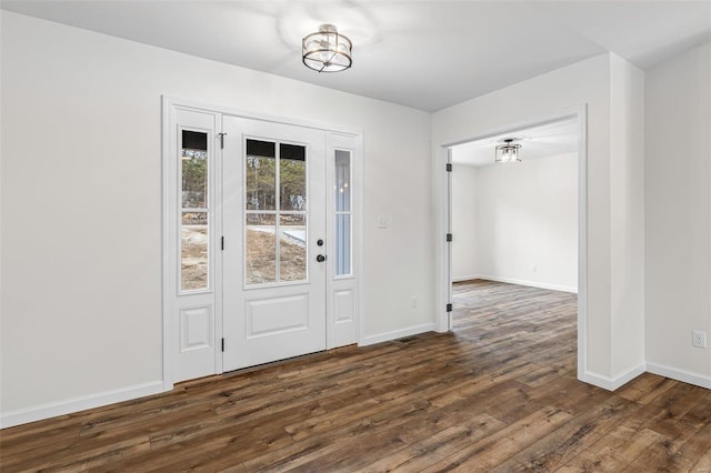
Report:
M578 379L585 381L585 368L588 346L588 105L581 104L565 109L559 113L551 113L537 117L510 125L489 130L478 135L461 137L457 141L449 143L434 143L432 155L432 195L435 209L435 325L438 332L449 330L449 314L445 304L449 301L451 285L451 268L448 262L449 244L444 235L449 225L449 175L445 163L449 159L449 148L490 138L498 134L518 131L524 128L560 121L563 119L577 119L579 125L580 141L578 143Z

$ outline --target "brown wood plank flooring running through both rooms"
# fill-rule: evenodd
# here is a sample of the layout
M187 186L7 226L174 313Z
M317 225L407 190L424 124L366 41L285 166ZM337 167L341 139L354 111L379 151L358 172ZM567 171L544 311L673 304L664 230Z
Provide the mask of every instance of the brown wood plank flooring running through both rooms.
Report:
M0 432L0 471L711 471L711 391L575 380L575 296L454 286L452 333L347 348Z

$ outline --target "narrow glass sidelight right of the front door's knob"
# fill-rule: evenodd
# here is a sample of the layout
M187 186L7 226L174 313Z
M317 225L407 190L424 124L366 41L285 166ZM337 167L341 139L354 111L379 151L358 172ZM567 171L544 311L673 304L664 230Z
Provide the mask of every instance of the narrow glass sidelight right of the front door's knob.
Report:
M336 150L336 275L351 274L351 152Z

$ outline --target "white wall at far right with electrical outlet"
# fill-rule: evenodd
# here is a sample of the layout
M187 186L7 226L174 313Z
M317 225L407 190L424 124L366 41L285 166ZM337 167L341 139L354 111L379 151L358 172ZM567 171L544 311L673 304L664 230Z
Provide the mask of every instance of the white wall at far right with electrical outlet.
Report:
M647 72L647 360L711 388L711 46ZM711 340L710 340L711 341Z

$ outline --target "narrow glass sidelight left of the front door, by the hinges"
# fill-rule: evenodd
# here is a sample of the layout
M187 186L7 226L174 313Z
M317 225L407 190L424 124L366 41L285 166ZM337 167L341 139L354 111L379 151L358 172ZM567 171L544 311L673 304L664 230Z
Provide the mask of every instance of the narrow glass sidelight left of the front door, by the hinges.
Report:
M180 290L203 290L210 264L208 133L182 130L180 170Z

